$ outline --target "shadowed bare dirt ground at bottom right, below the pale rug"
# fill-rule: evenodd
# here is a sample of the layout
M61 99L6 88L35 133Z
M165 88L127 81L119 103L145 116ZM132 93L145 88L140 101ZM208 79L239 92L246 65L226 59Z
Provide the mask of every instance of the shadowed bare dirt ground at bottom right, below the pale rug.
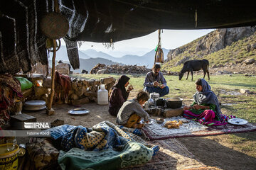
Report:
M250 132L256 135L256 132ZM178 141L207 166L219 169L256 169L256 158L235 150L226 142L228 135L208 137L183 137Z

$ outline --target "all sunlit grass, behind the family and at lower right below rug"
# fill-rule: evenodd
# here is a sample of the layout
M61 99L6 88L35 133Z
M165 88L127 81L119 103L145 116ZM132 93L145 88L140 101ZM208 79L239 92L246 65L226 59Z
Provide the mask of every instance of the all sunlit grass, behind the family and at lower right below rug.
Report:
M134 91L143 88L144 75L127 75L130 77L129 83L134 86ZM102 77L118 78L117 74L84 74L73 75L80 79L100 79ZM195 81L202 75L194 75L194 81L182 79L178 81L177 76L165 76L167 85L170 88L168 97L181 97L183 104L189 105L193 101L193 94L196 92ZM206 79L207 80L207 79ZM208 81L208 80L207 80ZM230 75L210 75L208 81L212 90L218 96L221 104L221 110L225 115L235 115L238 118L248 120L250 123L256 123L256 77L245 77L242 74ZM253 94L240 94L240 89L248 89ZM220 143L220 145L246 154L249 157L256 158L256 132L227 134L204 137ZM185 140L185 139L183 139ZM193 140L190 140L193 141ZM189 143L189 142L188 142ZM199 153L200 154L200 153Z

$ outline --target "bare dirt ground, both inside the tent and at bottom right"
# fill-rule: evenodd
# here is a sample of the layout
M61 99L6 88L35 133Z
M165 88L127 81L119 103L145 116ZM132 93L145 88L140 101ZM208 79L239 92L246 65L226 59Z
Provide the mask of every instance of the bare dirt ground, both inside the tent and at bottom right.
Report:
M131 95L130 98L132 98ZM116 118L108 113L108 106L99 106L96 103L87 103L82 106L54 105L55 114L47 115L46 111L23 112L33 115L37 122L53 122L56 119L64 120L65 124L83 125L91 128L93 125L108 120L114 124ZM87 108L90 113L86 115L70 115L68 111L73 108ZM256 132L252 132L256 135ZM178 140L187 149L207 166L220 169L255 169L256 158L238 152L225 142L227 135L209 137L183 137ZM177 167L178 169L178 167Z

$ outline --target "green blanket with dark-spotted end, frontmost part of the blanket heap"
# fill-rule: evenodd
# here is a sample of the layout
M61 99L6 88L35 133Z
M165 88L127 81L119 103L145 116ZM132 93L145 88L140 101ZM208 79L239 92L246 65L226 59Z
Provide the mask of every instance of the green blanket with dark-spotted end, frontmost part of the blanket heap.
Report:
M127 142L120 151L104 149L85 151L78 148L60 151L58 163L61 169L120 169L149 162L153 150L137 142Z

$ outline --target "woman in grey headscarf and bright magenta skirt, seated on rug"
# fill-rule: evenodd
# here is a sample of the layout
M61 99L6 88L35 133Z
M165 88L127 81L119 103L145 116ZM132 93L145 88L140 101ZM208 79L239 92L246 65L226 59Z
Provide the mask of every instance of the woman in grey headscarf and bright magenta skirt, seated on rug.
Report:
M205 79L196 81L196 94L193 96L191 106L184 106L183 117L196 119L203 125L225 125L226 120L235 116L221 114L217 96L210 90L210 85Z

